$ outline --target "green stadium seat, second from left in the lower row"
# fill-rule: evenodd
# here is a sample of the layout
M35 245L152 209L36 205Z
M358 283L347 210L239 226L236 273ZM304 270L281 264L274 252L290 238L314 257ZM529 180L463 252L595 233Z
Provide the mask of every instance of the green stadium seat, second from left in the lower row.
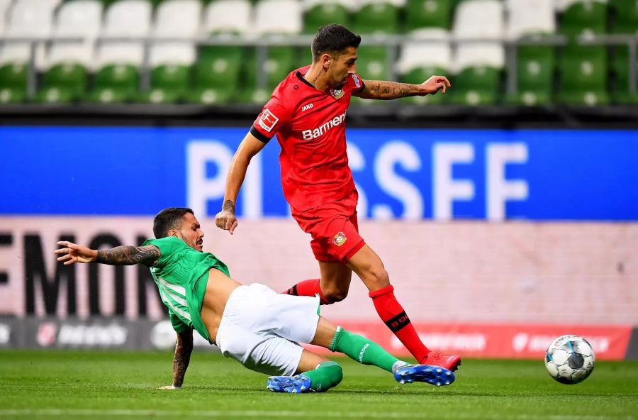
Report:
M43 86L36 94L38 102L68 103L80 99L88 86L86 67L63 63L54 65L43 77Z

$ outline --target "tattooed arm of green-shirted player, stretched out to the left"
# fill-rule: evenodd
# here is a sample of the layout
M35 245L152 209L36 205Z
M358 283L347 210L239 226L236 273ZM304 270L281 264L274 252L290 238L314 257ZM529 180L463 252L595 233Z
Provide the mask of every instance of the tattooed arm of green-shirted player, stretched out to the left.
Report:
M64 247L55 250L55 253L61 254L57 260L64 261L65 265L71 265L75 262L101 262L108 265L143 264L151 267L157 263L162 255L155 245L123 245L109 250L92 250L84 245L68 241L60 241L57 245Z

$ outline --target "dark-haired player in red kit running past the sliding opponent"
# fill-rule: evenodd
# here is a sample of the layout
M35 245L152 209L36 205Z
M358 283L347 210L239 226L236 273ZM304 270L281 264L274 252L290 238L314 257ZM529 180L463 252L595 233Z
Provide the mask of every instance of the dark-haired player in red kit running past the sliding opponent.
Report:
M381 258L359 236L357 189L348 166L345 116L352 95L364 99L445 93L447 78L432 76L422 84L364 80L356 72L361 37L343 26L319 29L313 39L313 63L277 86L233 157L226 179L223 209L216 225L233 233L235 201L250 159L276 134L281 154L281 184L293 218L310 233L320 278L305 280L287 293L318 294L322 304L347 296L352 271L369 289L374 307L418 363L456 370L457 355L432 352L420 341L403 307L394 297Z

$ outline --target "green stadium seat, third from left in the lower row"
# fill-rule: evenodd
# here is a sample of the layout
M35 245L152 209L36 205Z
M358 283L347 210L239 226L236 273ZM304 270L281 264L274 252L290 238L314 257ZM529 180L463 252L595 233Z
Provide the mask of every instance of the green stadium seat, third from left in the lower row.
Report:
M134 65L106 65L94 75L91 102L121 103L139 98L140 72Z

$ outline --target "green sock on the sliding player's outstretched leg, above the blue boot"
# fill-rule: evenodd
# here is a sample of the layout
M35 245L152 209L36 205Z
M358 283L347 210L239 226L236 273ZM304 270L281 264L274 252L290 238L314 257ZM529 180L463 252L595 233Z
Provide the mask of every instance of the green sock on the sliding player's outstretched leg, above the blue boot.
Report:
M337 332L330 343L330 351L344 353L352 360L364 365L374 365L388 372L394 372L398 367L408 365L395 358L379 344L363 336L350 333L337 326Z

